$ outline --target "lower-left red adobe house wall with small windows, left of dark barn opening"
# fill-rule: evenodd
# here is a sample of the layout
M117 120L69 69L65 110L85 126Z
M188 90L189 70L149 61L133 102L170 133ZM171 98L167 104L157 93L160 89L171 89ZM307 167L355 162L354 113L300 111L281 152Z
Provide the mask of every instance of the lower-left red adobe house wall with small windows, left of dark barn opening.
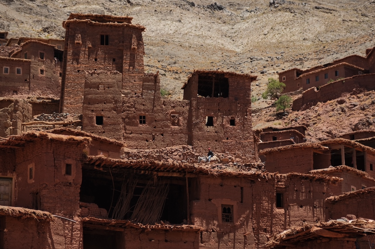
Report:
M36 140L16 149L15 206L33 208L33 193L40 196L40 209L69 219L80 215L81 160L83 144L55 140ZM66 163L72 175L65 174ZM29 168L33 167L30 179ZM82 227L79 223L56 218L51 222L55 248L79 248ZM69 233L66 233L69 231Z

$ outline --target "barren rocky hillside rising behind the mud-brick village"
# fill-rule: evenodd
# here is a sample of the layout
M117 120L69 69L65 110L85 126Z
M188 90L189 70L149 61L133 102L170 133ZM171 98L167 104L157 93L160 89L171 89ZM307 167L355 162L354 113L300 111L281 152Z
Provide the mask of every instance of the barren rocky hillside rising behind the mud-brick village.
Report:
M278 77L279 71L309 68L351 54L364 55L366 48L375 46L375 0L271 2L0 0L0 30L8 31L9 37L64 38L62 22L71 12L133 16L133 23L146 27L146 70L159 71L162 88L177 99L194 69L257 75L259 81L252 89L253 95L260 97L267 78ZM323 139L367 120L358 106L370 103L363 101L347 96L344 104L320 104L314 107L318 109L290 113L282 120L275 119L273 107L267 107L253 115L254 127L278 122L307 124L309 135ZM254 107L270 103L257 101ZM360 117L354 119L356 115ZM345 127L344 120L348 122Z

